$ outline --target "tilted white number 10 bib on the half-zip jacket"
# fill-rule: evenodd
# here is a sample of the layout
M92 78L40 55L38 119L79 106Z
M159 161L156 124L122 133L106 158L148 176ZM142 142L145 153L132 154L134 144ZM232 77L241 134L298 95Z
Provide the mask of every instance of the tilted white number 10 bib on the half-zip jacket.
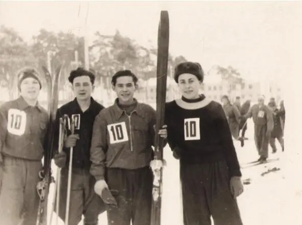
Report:
M110 144L127 142L129 140L125 122L109 124L107 125L107 129Z

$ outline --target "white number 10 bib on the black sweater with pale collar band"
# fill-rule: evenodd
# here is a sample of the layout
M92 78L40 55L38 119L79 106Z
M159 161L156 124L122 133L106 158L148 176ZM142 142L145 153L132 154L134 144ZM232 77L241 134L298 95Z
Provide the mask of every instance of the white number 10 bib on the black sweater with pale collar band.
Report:
M200 140L199 118L184 119L184 140Z

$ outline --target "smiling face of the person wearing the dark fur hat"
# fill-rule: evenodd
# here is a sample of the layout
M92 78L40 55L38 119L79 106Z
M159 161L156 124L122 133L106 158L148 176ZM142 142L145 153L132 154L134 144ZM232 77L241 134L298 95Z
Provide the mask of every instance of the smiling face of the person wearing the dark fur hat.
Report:
M199 97L200 80L191 73L183 73L178 76L178 87L181 95L187 99Z

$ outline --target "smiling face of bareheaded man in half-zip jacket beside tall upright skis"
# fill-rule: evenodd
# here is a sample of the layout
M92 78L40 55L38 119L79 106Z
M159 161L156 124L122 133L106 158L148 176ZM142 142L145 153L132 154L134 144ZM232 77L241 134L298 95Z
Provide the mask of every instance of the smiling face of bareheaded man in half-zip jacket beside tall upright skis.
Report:
M115 86L112 86L112 89L117 93L121 104L131 104L133 102L133 95L137 86L131 76L120 76L117 78Z

